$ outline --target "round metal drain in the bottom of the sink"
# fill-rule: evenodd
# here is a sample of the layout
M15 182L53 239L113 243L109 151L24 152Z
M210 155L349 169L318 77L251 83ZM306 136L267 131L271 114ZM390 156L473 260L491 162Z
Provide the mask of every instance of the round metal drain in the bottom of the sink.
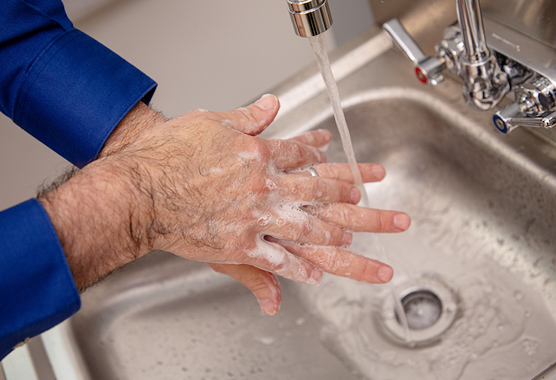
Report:
M386 330L398 341L425 344L438 339L456 317L457 297L440 279L432 276L402 283L395 288L401 301L410 336L400 322L391 296L384 299L381 320Z

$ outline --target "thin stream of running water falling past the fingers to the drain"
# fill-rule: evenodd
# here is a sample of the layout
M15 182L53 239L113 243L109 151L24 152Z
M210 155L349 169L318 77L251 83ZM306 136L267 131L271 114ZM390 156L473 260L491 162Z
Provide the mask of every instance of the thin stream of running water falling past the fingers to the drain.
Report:
M361 178L361 172L359 171L359 168L357 166L357 160L355 158L353 144L351 143L351 137L347 126L346 117L344 115L344 110L342 109L342 104L340 101L340 93L338 91L338 85L336 84L336 80L334 79L334 75L332 74L332 69L330 67L330 62L328 60L328 54L322 43L321 35L310 37L309 42L311 43L311 47L313 48L313 51L315 53L319 70L321 72L322 78L326 85L328 96L330 97L332 110L334 112L334 119L336 120L336 126L338 127L338 131L340 132L342 146L344 148L347 161L349 163L351 172L353 174L355 186L357 186L361 191L360 205L363 207L370 207L369 197L367 195L367 192L365 191L365 188L363 187L363 179ZM380 261L387 262L388 260L387 260L386 252L384 251L378 236L376 234L373 234L372 236L373 236L373 242L374 242L378 259ZM406 344L411 345L412 344L411 332L407 324L407 319L405 316L405 311L401 303L401 300L397 296L392 283L390 282L389 284L387 284L387 286L390 287L389 290L394 301L396 314L405 332Z

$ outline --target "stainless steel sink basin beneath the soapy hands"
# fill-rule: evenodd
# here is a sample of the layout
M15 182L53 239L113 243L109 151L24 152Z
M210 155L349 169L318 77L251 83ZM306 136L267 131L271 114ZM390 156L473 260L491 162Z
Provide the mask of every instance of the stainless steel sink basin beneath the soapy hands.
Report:
M357 158L388 172L366 185L372 207L412 216L382 249L354 239L393 266L391 285L281 281L282 309L267 317L231 279L153 252L87 291L58 343L46 337L55 372L67 360L82 379L554 378L556 147L498 134L455 81L422 86L381 33L333 61ZM283 109L266 137L326 128L329 161L344 161L314 68L274 92Z

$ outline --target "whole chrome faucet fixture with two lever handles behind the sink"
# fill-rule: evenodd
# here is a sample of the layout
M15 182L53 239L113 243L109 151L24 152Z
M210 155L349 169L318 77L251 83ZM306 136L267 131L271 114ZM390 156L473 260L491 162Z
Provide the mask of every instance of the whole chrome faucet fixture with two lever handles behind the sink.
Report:
M433 57L423 53L397 19L383 28L413 61L421 82L436 86L444 80L443 72L450 72L463 80L465 100L479 110L496 107L506 95L512 97L514 102L493 116L499 131L554 127L556 69L543 64L554 51L494 21L490 22L494 38L487 44L479 0L456 0L456 5L459 25L446 28ZM512 45L517 48L508 48Z

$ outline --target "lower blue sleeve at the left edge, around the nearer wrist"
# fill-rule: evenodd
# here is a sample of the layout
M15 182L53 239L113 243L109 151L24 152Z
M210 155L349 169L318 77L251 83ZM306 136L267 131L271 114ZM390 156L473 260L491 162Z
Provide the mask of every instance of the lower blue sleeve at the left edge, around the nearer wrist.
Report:
M79 307L66 257L41 204L31 199L0 212L0 359Z

